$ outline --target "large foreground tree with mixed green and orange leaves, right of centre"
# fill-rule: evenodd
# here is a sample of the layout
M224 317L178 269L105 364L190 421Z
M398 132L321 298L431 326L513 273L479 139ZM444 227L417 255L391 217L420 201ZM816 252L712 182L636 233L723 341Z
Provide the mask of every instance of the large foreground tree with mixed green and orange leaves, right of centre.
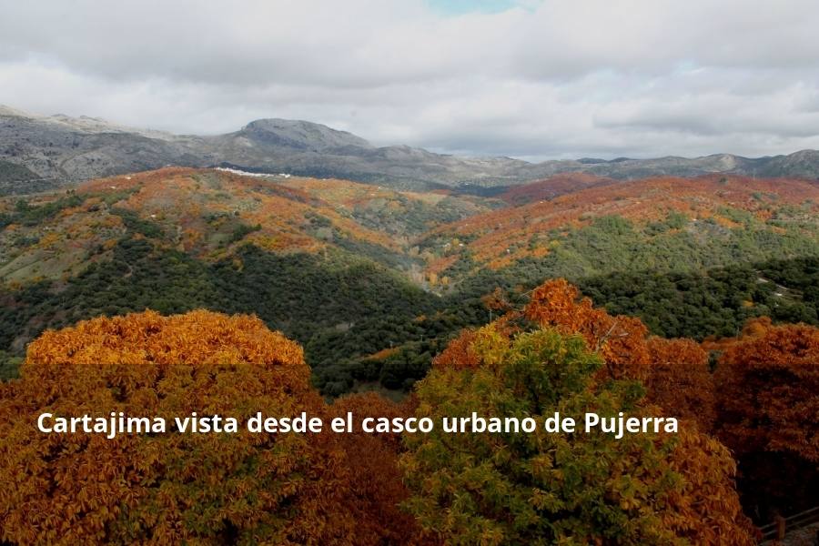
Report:
M415 415L656 415L629 380L601 383L579 335L490 325L460 339L417 385ZM469 343L468 348L463 345ZM469 362L459 363L458 355ZM477 359L477 364L472 360ZM581 424L582 427L582 424ZM407 509L451 544L752 544L733 460L696 428L679 434L446 433L404 436Z

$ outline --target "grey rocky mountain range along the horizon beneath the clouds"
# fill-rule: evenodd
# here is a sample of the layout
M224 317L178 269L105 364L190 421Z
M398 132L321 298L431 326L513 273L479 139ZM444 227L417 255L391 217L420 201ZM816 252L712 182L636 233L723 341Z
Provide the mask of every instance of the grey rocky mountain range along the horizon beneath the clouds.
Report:
M417 147L376 147L359 136L308 121L259 119L224 135L174 135L96 117L38 116L0 106L4 193L28 193L168 165L336 177L398 189L480 191L571 172L615 179L712 173L816 179L819 151L757 158L716 154L530 163L511 157L457 157Z

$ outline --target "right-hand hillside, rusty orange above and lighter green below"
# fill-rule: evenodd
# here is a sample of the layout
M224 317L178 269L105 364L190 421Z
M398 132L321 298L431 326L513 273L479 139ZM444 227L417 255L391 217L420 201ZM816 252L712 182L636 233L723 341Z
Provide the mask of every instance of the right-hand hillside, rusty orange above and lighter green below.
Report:
M814 182L647 178L469 217L431 231L422 248L443 272L549 256L566 274L690 269L813 251L817 210Z

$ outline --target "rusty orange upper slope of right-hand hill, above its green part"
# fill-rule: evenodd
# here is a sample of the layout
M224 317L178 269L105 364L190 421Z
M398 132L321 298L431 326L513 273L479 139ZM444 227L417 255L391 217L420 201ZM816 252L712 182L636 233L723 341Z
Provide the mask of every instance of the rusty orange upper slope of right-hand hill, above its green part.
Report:
M708 242L703 239L727 240L749 230L759 237L809 241L813 248L819 240L815 237L819 184L814 182L715 176L598 182L600 187L504 207L432 230L427 246L440 257L429 268L446 269L452 256L468 256L476 267L498 269L524 258L560 254L567 240L584 229L591 233L590 227L605 222L613 224L612 238L633 231L646 247L662 244L663 238L690 238L693 244ZM525 195L522 188L509 193ZM746 258L765 253L761 248L747 250ZM733 258L741 257L724 260ZM720 259L723 257L703 257L701 261L708 266ZM646 264L659 265L662 262ZM603 271L606 267L600 264L597 268Z

